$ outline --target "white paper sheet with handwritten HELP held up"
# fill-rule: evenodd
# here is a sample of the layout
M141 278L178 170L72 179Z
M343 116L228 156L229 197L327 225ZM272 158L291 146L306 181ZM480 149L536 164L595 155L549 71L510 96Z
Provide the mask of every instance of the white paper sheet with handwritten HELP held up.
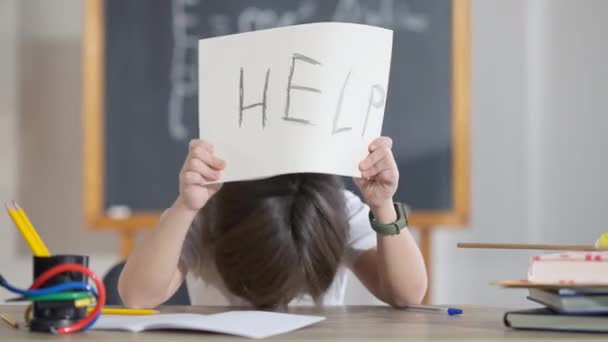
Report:
M222 181L360 176L380 136L392 31L316 23L199 41L199 134Z

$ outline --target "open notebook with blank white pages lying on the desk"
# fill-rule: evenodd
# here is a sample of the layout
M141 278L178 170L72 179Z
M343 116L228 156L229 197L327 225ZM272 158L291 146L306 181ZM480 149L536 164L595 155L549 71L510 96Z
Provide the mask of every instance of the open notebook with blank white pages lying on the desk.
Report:
M266 311L228 311L213 315L160 314L150 316L102 315L92 329L198 330L249 338L284 334L324 320L325 317Z

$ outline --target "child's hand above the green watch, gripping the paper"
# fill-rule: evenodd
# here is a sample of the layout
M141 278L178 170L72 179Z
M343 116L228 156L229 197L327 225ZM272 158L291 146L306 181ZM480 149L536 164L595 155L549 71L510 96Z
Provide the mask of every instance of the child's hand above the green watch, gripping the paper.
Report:
M399 170L393 157L389 137L380 137L369 144L369 155L359 163L363 178L355 178L355 184L361 190L365 202L371 208L390 204L399 184Z

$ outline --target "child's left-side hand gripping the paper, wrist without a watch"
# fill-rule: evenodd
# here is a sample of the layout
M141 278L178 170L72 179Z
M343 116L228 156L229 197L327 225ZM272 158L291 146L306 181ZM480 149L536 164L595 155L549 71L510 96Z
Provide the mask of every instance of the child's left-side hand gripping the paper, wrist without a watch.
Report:
M213 146L204 140L190 141L184 166L179 173L179 200L190 210L201 209L222 187L207 184L220 178L226 162L213 154Z

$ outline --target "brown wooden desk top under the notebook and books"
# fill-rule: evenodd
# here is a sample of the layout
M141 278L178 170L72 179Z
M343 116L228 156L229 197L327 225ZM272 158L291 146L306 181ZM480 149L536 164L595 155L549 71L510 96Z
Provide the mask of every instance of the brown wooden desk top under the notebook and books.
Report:
M460 317L443 314L408 312L379 306L334 307L316 310L294 308L289 312L321 314L327 319L316 325L279 335L271 340L286 341L606 341L606 335L516 331L505 328L502 315L505 309L464 306ZM225 308L168 307L166 312L214 313ZM22 321L24 307L0 305L0 312ZM0 341L246 341L226 335L193 332L125 333L88 331L62 338L50 334L15 330L0 322ZM236 323L236 322L235 322Z

